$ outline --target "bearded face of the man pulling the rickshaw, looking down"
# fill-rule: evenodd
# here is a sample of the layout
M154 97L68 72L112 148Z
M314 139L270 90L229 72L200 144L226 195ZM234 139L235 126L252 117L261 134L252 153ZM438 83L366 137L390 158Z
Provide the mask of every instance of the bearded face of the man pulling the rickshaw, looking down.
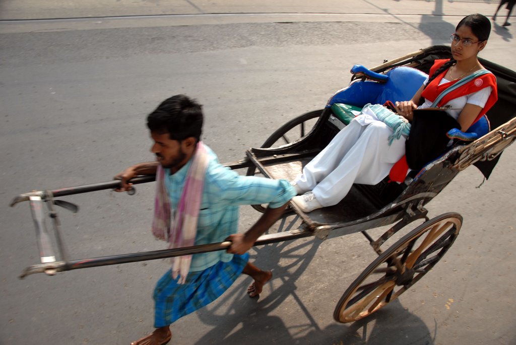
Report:
M180 169L186 164L186 153L183 151L181 141L170 139L168 133L158 134L151 132L154 140L151 152L156 155L156 160L166 169Z

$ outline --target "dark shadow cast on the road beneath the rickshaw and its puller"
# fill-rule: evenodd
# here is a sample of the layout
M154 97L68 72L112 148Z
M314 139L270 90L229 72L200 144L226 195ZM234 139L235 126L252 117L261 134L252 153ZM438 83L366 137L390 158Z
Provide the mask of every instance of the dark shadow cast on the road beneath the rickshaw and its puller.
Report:
M282 231L293 228L296 222L298 219L285 222ZM269 282L272 290L265 293L263 299L251 299L246 293L250 278L237 282L229 293L196 313L200 322L212 327L196 343L380 345L385 344L386 339L396 344L433 343L425 323L409 313L398 300L365 320L351 324L334 322L321 328L321 321L317 320L320 312L310 310L311 307L303 302L309 299L309 292L305 295L303 290L298 291L297 281L307 270L322 241L308 239L298 242L301 241L257 248L256 265L273 267L274 276ZM324 295L320 296L320 301L333 303ZM283 308L300 311L295 320L283 320L277 316L279 313L285 315Z

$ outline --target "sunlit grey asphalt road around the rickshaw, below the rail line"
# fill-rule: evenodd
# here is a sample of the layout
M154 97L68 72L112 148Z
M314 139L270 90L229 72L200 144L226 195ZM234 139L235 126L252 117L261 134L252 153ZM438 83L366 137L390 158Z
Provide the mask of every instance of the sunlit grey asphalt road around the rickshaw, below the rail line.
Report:
M243 158L287 120L322 108L347 85L352 64L447 44L458 21L302 18L182 26L142 18L102 29L57 22L61 29L43 31L45 23L26 23L30 30L0 35L0 344L130 343L152 329L152 289L168 268L158 260L19 280L39 257L28 205L7 207L14 195L109 180L152 160L144 119L177 93L204 104L203 138L220 161ZM515 50L511 31L496 25L482 56L516 70ZM431 216L461 213L461 235L432 272L371 318L332 319L341 294L375 257L362 235L304 239L253 250L256 264L274 273L261 298L249 299L250 280L239 278L215 303L174 323L172 343L515 343L515 150L504 152L481 188L481 174L469 168L428 205ZM147 185L135 196L67 198L81 207L77 215L60 211L72 258L163 249L149 231L152 194ZM250 207L241 215L242 231L259 217Z

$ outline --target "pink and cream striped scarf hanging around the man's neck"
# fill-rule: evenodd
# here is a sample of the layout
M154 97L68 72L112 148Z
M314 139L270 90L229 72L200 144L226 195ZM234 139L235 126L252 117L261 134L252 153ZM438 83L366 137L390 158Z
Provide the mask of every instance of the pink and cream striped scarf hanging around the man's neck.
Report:
M197 143L196 152L186 174L181 199L176 212L172 210L170 196L165 186L165 170L161 165L156 171L156 199L152 233L158 239L168 241L169 249L190 247L195 243L197 218L201 206L204 177L208 166L208 154L202 142ZM175 216L174 216L175 214ZM192 256L171 258L172 277L180 276L178 283L184 284Z

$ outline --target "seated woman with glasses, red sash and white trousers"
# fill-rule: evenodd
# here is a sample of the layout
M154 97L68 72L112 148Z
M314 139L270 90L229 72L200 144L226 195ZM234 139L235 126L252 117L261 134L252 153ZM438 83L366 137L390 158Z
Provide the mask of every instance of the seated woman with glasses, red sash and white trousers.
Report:
M396 102L396 113L409 122L416 108L428 108L449 86L485 70L477 59L485 48L491 23L481 14L463 18L451 35L452 59L436 60L430 77L410 101ZM478 74L478 73L477 73ZM425 102L417 107L421 97ZM492 73L476 76L447 92L439 107L465 131L496 102L496 78ZM332 206L344 199L353 183L376 185L405 155L405 136L392 140L393 130L368 109L344 127L292 183L298 195L292 201L304 212ZM391 137L391 140L389 140ZM434 157L437 158L437 157ZM303 194L304 193L304 194Z

